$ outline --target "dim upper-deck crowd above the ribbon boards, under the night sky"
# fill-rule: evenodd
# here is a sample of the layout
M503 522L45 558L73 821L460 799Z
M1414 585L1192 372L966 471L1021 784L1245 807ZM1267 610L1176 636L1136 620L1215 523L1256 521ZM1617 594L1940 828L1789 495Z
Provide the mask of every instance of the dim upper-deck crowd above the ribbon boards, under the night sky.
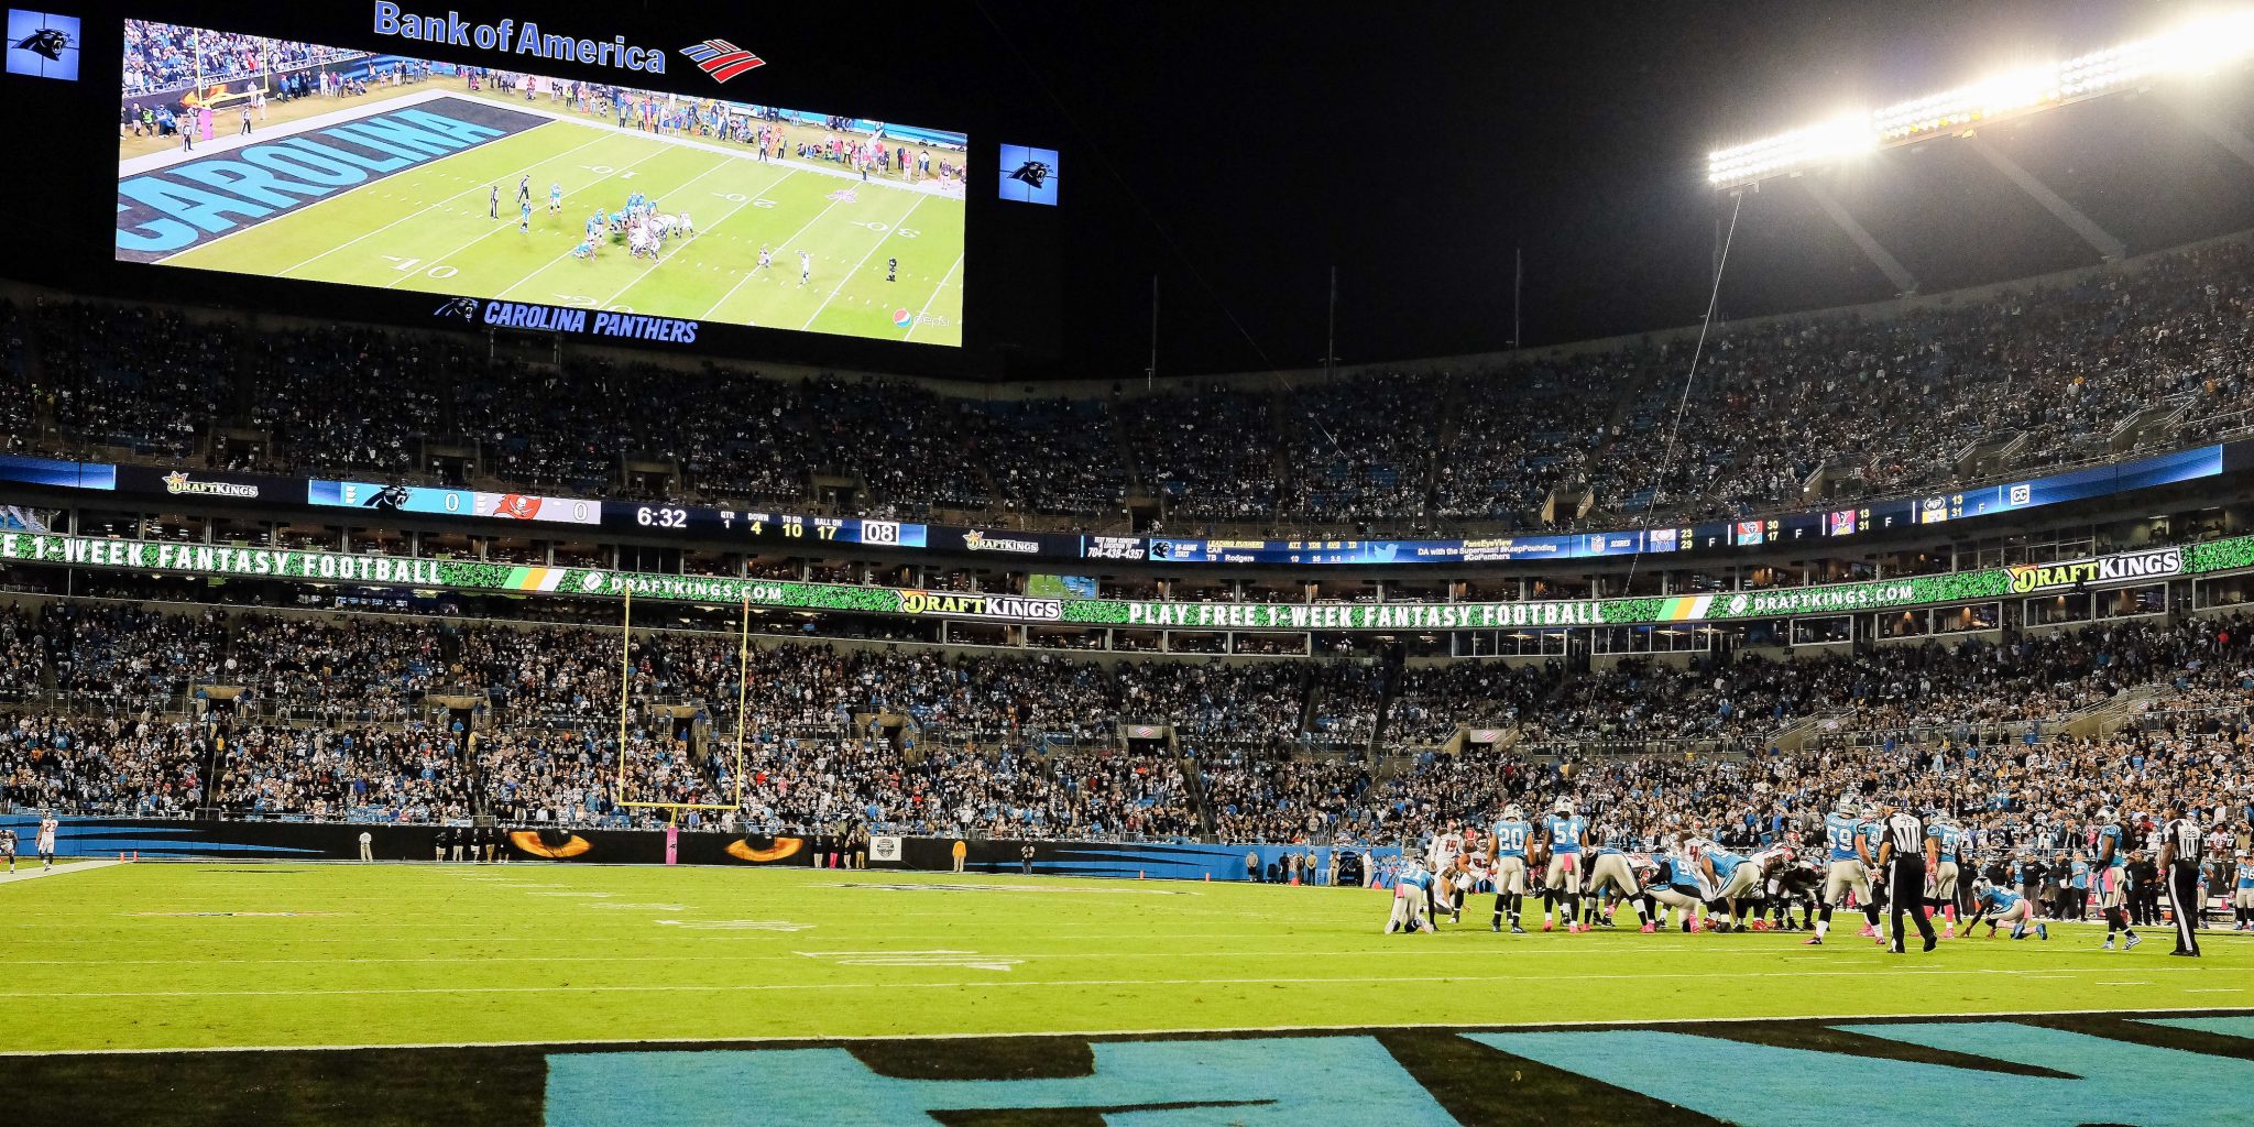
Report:
M559 370L460 338L246 334L59 300L0 311L0 412L34 415L25 428L61 453L243 464L255 446L270 469L403 480L444 480L451 458L525 489L870 516L1100 525L1141 494L1168 532L1591 525L1774 512L1819 469L1837 503L2218 437L2254 421L2249 266L2254 248L2225 241L1887 318L1722 327L1679 428L1679 340L1334 383L962 399L717 365Z

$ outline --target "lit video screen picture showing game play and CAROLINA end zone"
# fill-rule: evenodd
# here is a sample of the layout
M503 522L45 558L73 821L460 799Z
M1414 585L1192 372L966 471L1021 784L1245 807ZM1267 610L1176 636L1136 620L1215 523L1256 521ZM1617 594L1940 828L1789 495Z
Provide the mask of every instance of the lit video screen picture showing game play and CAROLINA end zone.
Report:
M962 343L962 133L144 20L124 52L122 261Z

